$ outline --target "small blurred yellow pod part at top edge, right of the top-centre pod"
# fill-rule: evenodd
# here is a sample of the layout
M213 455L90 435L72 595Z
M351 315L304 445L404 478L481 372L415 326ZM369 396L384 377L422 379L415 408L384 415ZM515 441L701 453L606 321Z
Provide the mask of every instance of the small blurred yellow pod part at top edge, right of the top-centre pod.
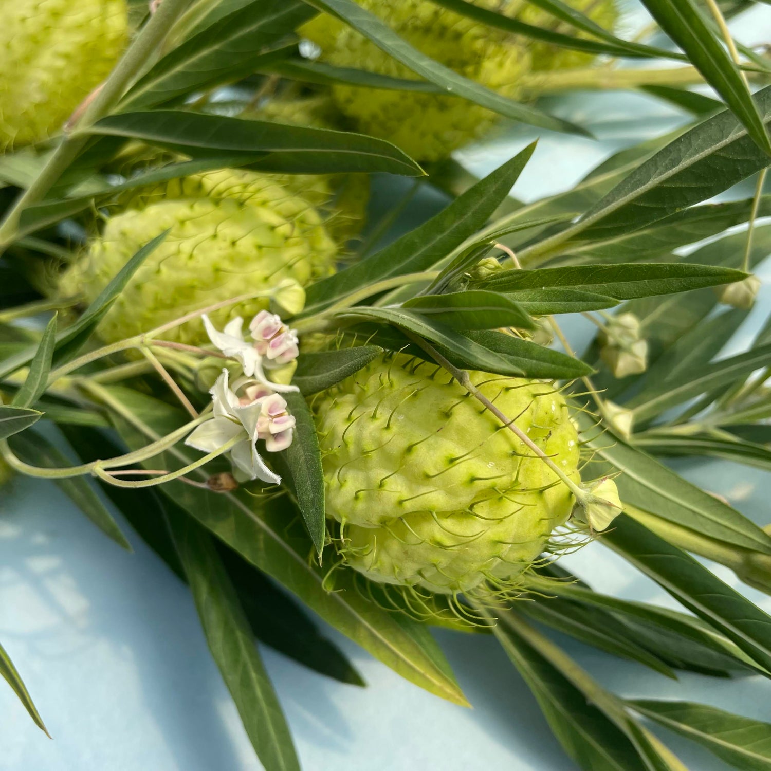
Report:
M603 29L612 31L618 22L618 8L616 8L614 0L569 0L568 5L587 15ZM566 35L577 35L581 38L589 37L584 32L577 32L571 25L555 19L553 15L538 8L533 3L525 3L519 18L527 24L534 24L542 29L562 32ZM539 71L585 67L591 64L594 59L594 55L591 53L571 51L571 49L538 41L532 43L530 53L532 69Z

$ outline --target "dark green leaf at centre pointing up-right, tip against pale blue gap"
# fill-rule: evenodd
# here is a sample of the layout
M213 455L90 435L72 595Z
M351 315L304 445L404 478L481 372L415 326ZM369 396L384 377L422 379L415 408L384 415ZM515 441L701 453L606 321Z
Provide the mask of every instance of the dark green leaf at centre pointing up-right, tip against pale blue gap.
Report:
M457 197L446 209L365 261L353 264L307 289L305 311L323 311L346 295L385 278L431 268L473 236L505 200L523 164L515 156Z

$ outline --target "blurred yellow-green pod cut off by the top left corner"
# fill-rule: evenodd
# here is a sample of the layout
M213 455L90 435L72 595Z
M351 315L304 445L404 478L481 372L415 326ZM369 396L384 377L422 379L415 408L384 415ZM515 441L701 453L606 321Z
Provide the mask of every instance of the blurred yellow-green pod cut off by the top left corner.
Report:
M0 25L0 150L45 139L113 69L125 0L8 0Z

